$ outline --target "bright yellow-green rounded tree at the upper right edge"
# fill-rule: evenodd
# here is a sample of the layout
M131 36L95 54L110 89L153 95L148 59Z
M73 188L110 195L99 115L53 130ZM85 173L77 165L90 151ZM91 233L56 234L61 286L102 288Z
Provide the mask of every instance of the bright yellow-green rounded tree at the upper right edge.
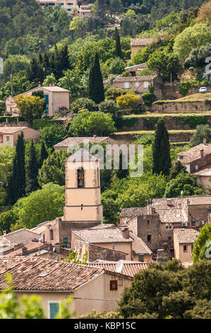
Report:
M183 30L174 40L174 52L185 61L193 49L210 43L211 31L205 23L198 23Z

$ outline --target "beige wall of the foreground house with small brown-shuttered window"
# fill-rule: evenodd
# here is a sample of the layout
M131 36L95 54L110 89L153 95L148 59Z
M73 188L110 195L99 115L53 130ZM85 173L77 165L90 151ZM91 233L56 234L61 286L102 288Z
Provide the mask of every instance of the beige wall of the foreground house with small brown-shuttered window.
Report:
M110 290L110 281L117 281L117 290ZM23 295L36 295L42 298L41 305L44 308L45 315L49 318L49 303L62 302L65 305L66 299L73 296L73 303L68 305L69 310L76 311L76 317L85 315L92 310L110 312L116 310L118 301L121 298L123 289L131 286L131 278L117 276L115 273L102 273L92 281L85 283L80 288L76 288L73 293L64 292L16 292L18 299ZM77 299L76 299L77 298ZM112 301L109 301L112 300Z

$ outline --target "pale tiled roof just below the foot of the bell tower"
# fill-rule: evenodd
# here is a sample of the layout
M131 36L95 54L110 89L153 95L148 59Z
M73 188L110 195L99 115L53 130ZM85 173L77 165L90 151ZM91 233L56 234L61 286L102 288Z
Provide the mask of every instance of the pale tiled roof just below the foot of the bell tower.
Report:
M132 242L131 238L124 238L121 231L114 228L100 229L80 229L73 230L74 234L80 236L85 242L96 243L116 243L116 242Z

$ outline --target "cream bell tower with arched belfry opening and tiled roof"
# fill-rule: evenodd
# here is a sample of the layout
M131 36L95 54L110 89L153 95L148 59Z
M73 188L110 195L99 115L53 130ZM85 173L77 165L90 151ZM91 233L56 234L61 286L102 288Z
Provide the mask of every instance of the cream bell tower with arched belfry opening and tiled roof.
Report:
M100 162L85 149L65 160L64 221L102 223Z

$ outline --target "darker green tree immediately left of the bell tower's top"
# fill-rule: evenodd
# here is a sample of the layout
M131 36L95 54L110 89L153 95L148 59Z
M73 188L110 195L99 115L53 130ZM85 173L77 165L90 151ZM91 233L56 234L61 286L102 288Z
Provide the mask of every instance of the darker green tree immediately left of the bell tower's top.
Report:
M60 150L44 160L37 177L40 186L48 183L63 186L65 183L64 160L69 156L68 152Z

